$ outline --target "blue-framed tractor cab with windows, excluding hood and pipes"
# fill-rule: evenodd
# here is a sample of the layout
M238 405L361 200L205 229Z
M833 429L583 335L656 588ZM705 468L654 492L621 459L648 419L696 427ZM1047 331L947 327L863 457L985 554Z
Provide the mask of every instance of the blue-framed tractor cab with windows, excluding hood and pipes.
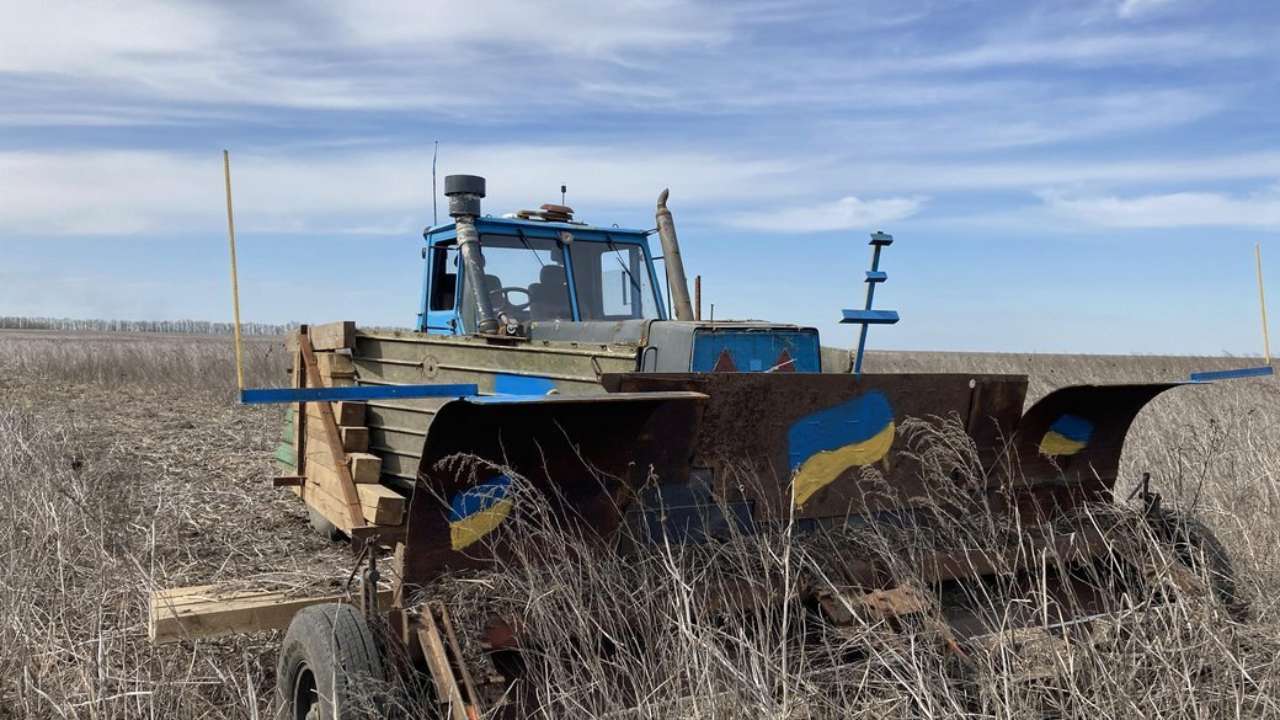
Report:
M532 323L667 318L644 231L534 218L476 218L484 297L512 334ZM479 329L457 224L428 228L417 329Z

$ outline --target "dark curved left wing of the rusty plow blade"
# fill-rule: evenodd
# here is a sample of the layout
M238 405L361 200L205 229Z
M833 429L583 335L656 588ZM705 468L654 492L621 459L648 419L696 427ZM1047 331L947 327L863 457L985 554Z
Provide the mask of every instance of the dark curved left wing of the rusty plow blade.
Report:
M454 550L449 506L506 471L518 473L522 487L545 497L567 528L608 537L650 473L672 482L687 477L703 401L692 393L654 392L444 405L410 502L403 582L421 585L448 569L504 553L500 533L493 543Z

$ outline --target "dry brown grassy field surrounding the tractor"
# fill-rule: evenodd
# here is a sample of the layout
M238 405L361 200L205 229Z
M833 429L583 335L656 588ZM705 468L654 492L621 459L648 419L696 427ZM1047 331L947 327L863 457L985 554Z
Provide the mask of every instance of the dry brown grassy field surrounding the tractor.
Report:
M250 350L250 382L280 384L283 352L268 341ZM883 352L869 370L1027 373L1038 396L1240 364ZM227 338L0 332L0 719L274 716L276 637L146 642L152 588L301 591L337 585L351 569L349 553L311 534L296 498L268 482L280 410L233 398ZM605 667L564 647L536 664L559 717L1280 717L1280 383L1166 393L1129 437L1124 475L1142 471L1219 533L1252 619L1181 603L1123 638L1061 653L1052 682L1016 682L996 653L959 687L919 647L872 652L854 674L826 662L829 647L814 655L788 639L803 619L786 598L748 629L710 626L691 607L694 570L678 552L630 565L516 562L453 589L525 606L548 646L550 625L646 625L644 657L622 653ZM809 557L781 537L717 561L786 580Z

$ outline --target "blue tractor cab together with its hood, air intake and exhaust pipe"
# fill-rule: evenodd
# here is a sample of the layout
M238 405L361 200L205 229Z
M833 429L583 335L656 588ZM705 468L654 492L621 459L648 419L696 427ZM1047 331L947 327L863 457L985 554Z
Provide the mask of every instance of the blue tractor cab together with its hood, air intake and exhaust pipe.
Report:
M818 373L818 331L701 322L694 313L666 192L658 201L664 281L652 232L594 227L563 205L483 215L484 178L449 176L449 224L428 228L417 329L543 343L603 345L645 373Z

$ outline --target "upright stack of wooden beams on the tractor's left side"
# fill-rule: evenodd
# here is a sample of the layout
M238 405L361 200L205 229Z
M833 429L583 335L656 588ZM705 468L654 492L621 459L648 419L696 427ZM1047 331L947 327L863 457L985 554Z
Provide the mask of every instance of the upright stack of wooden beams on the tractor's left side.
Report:
M305 336L302 334L305 333ZM307 366L303 337L310 341L314 366ZM302 328L289 336L293 354L294 387L349 387L358 384L351 351L355 346L355 323L329 323ZM307 382L311 380L311 382ZM282 443L275 457L291 478L301 478L291 489L339 530L351 536L361 527L399 528L404 521L407 501L397 491L381 484L383 460L370 452L369 428L362 402L298 404L289 410ZM332 416L332 419L330 419ZM330 445L330 428L340 447ZM301 452L300 448L301 447ZM301 466L300 461L301 460ZM340 466L339 466L340 465ZM353 495L344 487L352 483ZM365 525L357 525L348 505L355 498Z

